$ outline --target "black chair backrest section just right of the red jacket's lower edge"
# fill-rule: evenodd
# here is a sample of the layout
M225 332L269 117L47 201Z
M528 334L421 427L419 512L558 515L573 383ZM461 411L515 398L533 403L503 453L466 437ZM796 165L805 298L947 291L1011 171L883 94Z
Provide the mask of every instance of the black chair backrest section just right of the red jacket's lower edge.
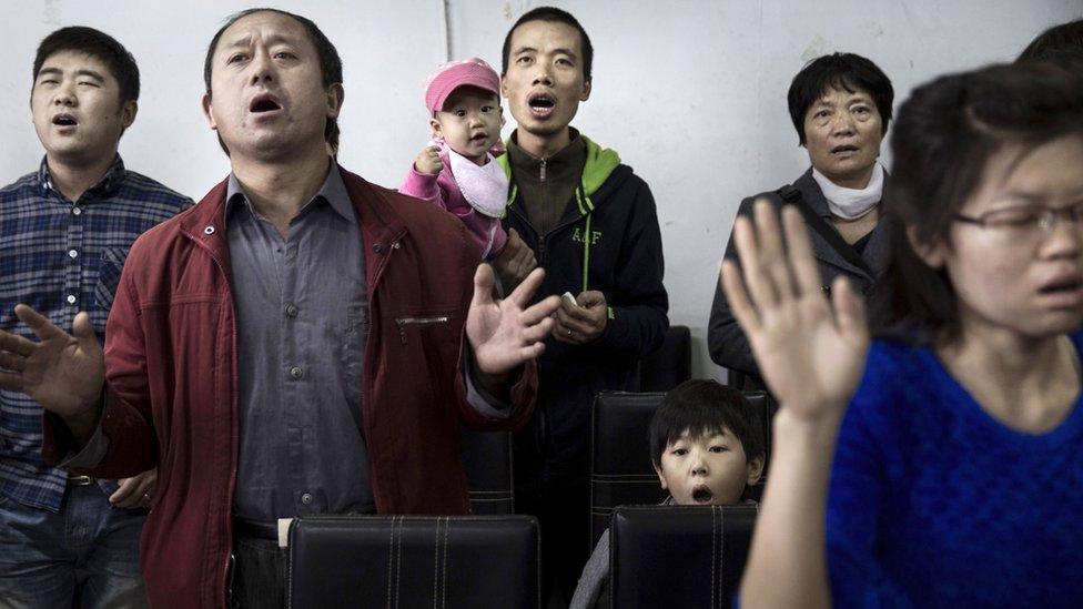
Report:
M515 512L512 487L512 435L507 432L463 429L463 468L470 495L470 512Z

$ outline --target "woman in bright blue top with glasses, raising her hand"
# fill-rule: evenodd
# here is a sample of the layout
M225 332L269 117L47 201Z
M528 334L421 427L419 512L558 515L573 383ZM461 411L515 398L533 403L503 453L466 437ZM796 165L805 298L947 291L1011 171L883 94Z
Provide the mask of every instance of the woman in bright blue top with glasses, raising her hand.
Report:
M758 231L738 221L743 282L732 263L722 282L783 405L742 600L1079 607L1083 82L938 79L900 109L892 152L901 329L871 349L853 290L824 297L796 210L786 248L766 204Z

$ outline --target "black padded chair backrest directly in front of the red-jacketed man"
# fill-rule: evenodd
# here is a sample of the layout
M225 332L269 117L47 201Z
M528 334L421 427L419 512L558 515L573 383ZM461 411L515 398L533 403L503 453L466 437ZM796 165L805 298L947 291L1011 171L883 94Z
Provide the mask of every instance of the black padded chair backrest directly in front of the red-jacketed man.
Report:
M306 516L290 526L290 607L540 605L530 516Z

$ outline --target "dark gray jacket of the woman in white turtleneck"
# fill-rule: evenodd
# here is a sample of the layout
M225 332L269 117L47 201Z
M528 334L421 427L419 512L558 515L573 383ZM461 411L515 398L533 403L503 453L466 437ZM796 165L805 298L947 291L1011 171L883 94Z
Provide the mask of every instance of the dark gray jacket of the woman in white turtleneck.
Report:
M885 190L888 180L889 177L885 175ZM812 179L812 168L809 168L801 177L793 182L793 187L801 193L801 201L797 204L808 205L813 213L830 225L831 211L828 209L828 202L823 197L823 192L816 183L816 180ZM737 212L738 215L751 216L752 203L760 197L770 201L779 211L787 203L778 191L760 193L741 201L741 206ZM816 257L817 266L820 270L820 281L823 290L828 290L828 286L831 285L834 277L846 275L850 281L850 285L859 294L868 298L878 278L888 266L890 255L889 234L890 220L881 217L880 223L872 230L864 251L861 253L861 258L868 267L862 268L848 261L847 256L833 247L820 233L810 230L809 237L812 241L812 255ZM726 246L726 257L738 260L737 246L733 243L732 234L730 235L729 244ZM715 303L711 305L710 322L707 326L707 346L710 349L711 359L716 364L751 377L752 386L746 388L762 387L759 380L759 369L756 366L756 361L752 358L748 338L745 337L745 333L738 326L737 319L733 318L729 303L726 301L726 294L722 292L721 285L717 282L715 285Z

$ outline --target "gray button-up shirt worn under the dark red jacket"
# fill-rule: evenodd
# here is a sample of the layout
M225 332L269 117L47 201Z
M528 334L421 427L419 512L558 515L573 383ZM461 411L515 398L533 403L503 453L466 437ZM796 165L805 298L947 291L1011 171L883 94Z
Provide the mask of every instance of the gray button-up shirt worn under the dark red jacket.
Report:
M240 371L236 514L373 511L361 418L365 258L342 176L332 165L282 238L231 175L225 223Z

